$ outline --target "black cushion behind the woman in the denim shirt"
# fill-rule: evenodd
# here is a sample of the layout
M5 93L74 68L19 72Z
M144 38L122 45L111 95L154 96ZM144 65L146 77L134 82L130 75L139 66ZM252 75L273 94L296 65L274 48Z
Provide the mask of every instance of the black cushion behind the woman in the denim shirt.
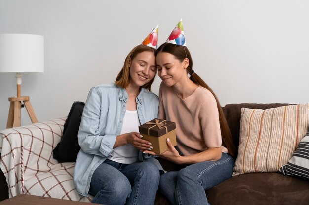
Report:
M80 150L78 145L78 130L81 121L84 102L74 102L63 127L61 141L53 150L53 157L58 162L75 162Z

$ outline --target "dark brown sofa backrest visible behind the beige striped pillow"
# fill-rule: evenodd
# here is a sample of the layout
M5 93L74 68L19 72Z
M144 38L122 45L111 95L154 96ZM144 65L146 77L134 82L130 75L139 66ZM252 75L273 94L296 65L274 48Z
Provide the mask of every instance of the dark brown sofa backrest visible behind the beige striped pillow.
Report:
M241 108L250 109L269 109L277 108L280 106L291 105L287 103L270 103L270 104L257 104L257 103L239 103L239 104L227 104L223 107L223 113L228 121L228 125L232 134L232 141L236 147L236 153L238 153L239 145L239 131L240 131L240 118L241 118Z

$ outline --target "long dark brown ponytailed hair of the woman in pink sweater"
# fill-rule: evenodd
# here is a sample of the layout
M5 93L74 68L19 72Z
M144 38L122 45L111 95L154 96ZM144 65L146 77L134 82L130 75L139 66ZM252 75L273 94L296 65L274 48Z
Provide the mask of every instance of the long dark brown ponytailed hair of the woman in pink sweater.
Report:
M166 52L169 54L172 54L175 59L178 59L180 62L183 62L185 58L189 59L189 66L187 67L187 73L191 74L193 72L192 65L193 65L193 60L191 58L191 54L186 46L180 46L176 44L171 44L171 43L164 43L162 44L156 51L156 55L159 52ZM206 89L208 89L213 96L216 99L217 102L217 107L219 111L219 121L220 121L220 130L221 130L221 137L222 137L222 146L227 147L229 154L233 157L235 157L236 154L236 148L232 142L232 135L231 131L228 125L228 122L223 114L222 107L219 103L219 100L215 93L212 91L212 89L199 77L195 71L191 74L190 80L192 80L195 84L198 84Z

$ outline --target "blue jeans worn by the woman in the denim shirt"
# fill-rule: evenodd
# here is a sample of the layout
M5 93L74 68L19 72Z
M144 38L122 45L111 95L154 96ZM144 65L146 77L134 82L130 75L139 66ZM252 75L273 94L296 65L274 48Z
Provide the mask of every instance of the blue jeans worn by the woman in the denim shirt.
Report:
M121 164L106 159L92 175L89 194L98 204L153 205L159 179L153 163Z

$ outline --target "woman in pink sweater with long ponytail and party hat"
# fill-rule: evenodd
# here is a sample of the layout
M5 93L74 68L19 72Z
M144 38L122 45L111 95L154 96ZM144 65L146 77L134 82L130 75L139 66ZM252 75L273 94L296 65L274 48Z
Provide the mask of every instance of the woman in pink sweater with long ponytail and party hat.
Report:
M205 190L232 177L235 148L216 95L192 69L182 21L156 51L156 64L159 118L176 123L177 137L177 149L167 139L160 157L181 168L161 175L159 189L173 205L208 205Z

